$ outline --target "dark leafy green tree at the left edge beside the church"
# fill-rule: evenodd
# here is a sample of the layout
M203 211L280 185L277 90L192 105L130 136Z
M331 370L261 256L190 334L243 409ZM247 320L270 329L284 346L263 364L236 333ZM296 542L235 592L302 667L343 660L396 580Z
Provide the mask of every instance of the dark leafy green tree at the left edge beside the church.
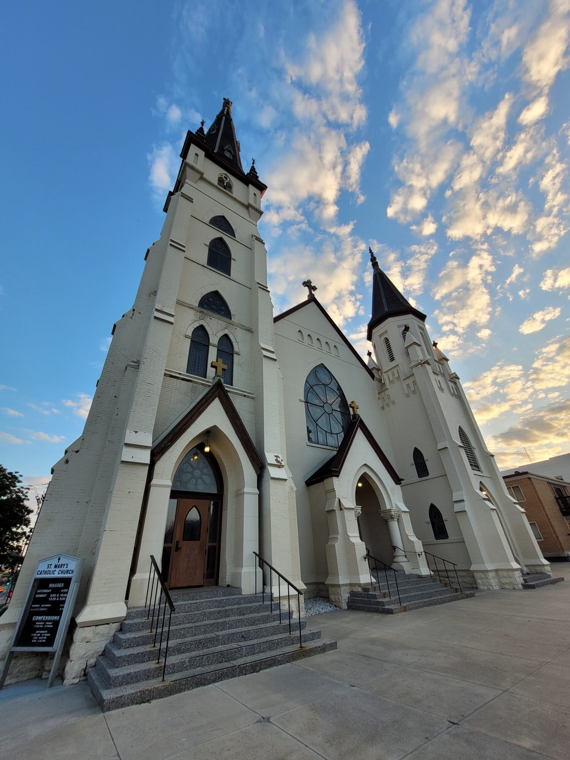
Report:
M32 510L21 482L20 473L8 472L0 464L0 565L13 564L30 527Z

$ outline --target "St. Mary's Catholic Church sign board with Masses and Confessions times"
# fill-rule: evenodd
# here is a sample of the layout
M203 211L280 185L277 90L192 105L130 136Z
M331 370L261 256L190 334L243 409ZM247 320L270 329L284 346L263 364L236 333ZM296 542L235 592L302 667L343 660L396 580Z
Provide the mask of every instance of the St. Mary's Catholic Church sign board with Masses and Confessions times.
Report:
M78 595L82 566L82 559L68 554L40 559L6 655L0 689L8 676L14 652L53 653L48 679L48 689L51 689Z

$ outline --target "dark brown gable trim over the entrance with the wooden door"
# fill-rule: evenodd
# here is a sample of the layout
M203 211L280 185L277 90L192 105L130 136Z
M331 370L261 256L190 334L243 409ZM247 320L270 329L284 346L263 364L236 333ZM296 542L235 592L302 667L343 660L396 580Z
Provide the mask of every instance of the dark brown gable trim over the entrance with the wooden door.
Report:
M258 475L264 468L263 461L258 454L258 450L255 448L255 443L252 441L249 432L242 423L242 418L239 416L238 410L233 405L233 401L230 398L230 394L226 391L225 385L221 380L212 385L211 388L204 393L204 395L196 401L192 409L179 420L176 425L166 433L163 439L160 439L157 444L150 450L150 466L154 467L154 464L168 451L168 449L176 443L180 436L188 430L188 428L198 420L198 417L210 406L210 404L218 399L226 412L232 427L236 432L239 442L245 448L245 453L248 455L249 461L252 463L252 467L255 470L255 474Z

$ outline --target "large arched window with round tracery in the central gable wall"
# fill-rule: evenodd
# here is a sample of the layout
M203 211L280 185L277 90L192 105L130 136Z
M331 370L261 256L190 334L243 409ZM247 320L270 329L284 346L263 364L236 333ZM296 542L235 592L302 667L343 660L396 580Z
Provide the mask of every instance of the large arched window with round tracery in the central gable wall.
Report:
M338 448L350 423L347 399L324 364L305 381L305 419L309 443Z

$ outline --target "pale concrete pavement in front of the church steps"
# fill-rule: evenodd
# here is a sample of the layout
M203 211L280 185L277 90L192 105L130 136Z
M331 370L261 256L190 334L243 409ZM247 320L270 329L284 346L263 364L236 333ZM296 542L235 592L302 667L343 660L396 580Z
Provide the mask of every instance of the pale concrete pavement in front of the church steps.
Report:
M567 760L566 583L401 615L309 618L338 649L124 710L87 684L0 692L7 760Z

